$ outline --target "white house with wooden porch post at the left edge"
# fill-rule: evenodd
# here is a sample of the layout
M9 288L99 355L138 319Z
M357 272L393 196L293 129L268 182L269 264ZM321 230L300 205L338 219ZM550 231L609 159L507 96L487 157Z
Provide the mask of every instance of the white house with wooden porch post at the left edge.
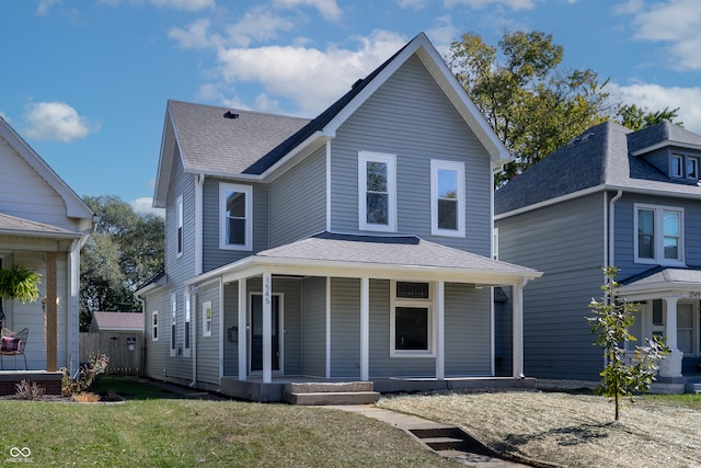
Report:
M38 303L0 299L3 327L30 331L30 370L78 364L80 249L92 227L90 207L0 117L0 267L42 275Z

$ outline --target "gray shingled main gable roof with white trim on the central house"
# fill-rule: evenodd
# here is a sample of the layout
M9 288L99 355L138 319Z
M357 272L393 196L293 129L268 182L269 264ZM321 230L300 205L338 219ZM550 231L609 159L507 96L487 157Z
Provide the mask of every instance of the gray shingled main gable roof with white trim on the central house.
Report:
M413 55L422 60L494 164L510 160L489 123L421 33L311 121L169 101L154 205L164 206L172 164L169 159L175 147L180 149L186 172L265 178L286 160L333 138L338 127ZM223 118L227 111L238 114L239 118ZM222 133L227 135L219 135Z

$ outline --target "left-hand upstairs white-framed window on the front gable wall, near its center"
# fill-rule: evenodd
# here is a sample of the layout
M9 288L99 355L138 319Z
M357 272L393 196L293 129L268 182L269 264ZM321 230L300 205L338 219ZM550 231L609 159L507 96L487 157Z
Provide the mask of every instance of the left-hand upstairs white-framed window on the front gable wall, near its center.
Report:
M397 231L397 156L358 153L358 225L361 230Z

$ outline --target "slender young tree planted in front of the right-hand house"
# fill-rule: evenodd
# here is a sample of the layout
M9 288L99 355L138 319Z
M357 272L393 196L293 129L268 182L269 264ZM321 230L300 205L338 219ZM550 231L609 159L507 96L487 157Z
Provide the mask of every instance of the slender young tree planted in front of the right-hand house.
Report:
M606 366L600 373L601 385L597 391L605 397L613 398L616 403L616 421L620 420L621 399L631 397L633 392L641 393L650 390L655 380L658 363L669 347L657 335L645 339L645 345L635 346L635 357L629 364L625 362L627 341L636 341L629 333L633 326L635 304L621 299L618 296L620 288L616 282L618 269L608 266L604 269L605 284L601 286L604 297L599 300L591 298L589 308L595 317L587 317L591 324L591 333L597 333L596 345L604 347Z

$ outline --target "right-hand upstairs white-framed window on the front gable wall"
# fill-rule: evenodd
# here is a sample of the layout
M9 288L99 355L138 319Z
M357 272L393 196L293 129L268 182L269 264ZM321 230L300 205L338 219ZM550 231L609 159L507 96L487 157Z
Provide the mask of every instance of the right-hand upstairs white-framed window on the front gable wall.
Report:
M464 237L464 163L430 161L430 232Z

